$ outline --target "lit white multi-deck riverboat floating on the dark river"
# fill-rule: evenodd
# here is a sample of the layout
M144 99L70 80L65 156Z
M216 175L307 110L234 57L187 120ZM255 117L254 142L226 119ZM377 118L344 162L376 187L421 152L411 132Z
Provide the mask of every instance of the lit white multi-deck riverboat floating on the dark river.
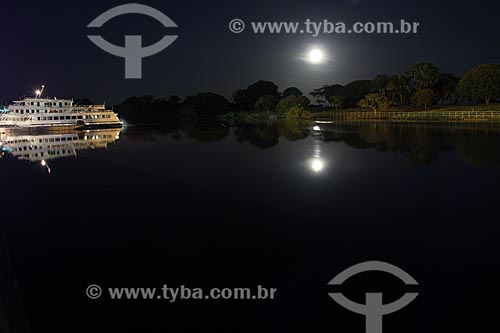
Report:
M0 110L0 128L121 127L122 121L105 105L77 105L71 99L35 97L14 101Z

